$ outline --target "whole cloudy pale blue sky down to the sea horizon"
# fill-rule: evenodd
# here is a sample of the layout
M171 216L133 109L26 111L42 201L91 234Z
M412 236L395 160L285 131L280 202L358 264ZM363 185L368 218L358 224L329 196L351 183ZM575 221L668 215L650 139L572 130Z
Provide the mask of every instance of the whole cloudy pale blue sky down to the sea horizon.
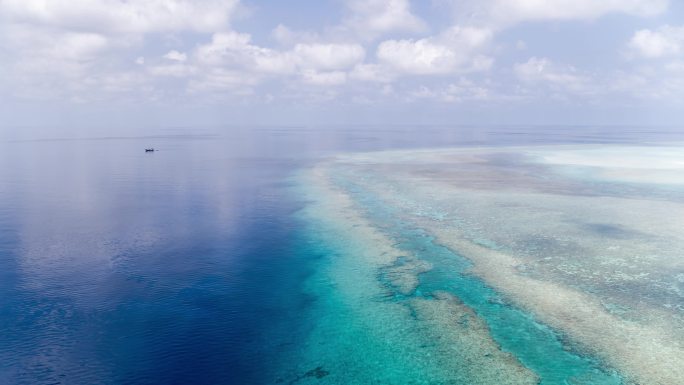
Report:
M684 124L684 2L0 0L0 127Z

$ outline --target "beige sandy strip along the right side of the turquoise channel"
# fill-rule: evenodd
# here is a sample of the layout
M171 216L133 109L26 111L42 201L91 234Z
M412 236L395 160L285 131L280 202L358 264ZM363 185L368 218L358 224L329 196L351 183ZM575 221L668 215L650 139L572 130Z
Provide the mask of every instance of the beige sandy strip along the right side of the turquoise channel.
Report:
M666 331L611 315L591 295L521 276L515 258L464 240L454 231L435 229L434 234L473 261L474 274L635 383L669 385L684 378L684 350Z

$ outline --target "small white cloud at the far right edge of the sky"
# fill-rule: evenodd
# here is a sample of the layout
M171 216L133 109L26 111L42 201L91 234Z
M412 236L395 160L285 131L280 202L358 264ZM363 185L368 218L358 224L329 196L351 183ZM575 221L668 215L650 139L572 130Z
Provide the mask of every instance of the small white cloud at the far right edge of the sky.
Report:
M684 53L684 27L665 25L657 31L636 31L628 43L631 52L645 58L661 58Z

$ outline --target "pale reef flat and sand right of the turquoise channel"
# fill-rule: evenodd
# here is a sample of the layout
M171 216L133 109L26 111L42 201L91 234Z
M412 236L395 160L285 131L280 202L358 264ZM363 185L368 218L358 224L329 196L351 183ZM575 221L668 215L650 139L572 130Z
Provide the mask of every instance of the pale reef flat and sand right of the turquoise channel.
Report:
M568 148L573 149L565 146L555 150L562 152ZM633 196L611 197L595 195L589 189L582 190L580 197L573 196L571 193L577 186L584 187L581 181L566 185L563 176L540 182L536 175L529 175L530 169L492 171L485 165L478 170L478 175L468 174L468 167L452 170L459 163L480 167L487 162L483 154L493 151L502 150L359 154L340 157L337 166L346 168L347 177L384 194L388 204L402 208L406 219L434 234L440 243L473 261L473 273L563 332L578 348L601 357L634 383L681 383L684 378L684 332L681 300L678 300L681 286L677 279L663 283L660 278L672 278L667 277L668 269L678 274L682 267L684 216L679 214L684 213L684 206L681 202L668 201L667 197L649 200L639 196L639 191ZM519 153L524 149L508 151ZM625 152L614 153L624 155ZM559 162L558 159L562 157L555 158L554 162ZM600 165L602 172L610 172L614 166L611 162ZM670 157L659 164L678 167L677 162ZM593 161L592 167L599 167L597 163ZM640 182L657 183L644 176L648 170L641 175ZM551 174L545 177L558 178ZM492 182L489 180L492 178L497 180ZM508 185L499 183L502 178ZM501 187L507 192L492 192ZM487 218L477 218L478 213ZM580 223L573 214L589 221L598 218L603 228L621 232L612 237L611 234L592 235L583 230L587 224ZM506 234L499 235L502 231ZM482 239L482 234L498 237L498 242ZM516 249L520 240L529 235L543 239L556 237L557 244L543 249L541 255L536 255L535 250ZM582 257L584 253L594 255L588 261L583 258L573 261L573 252L582 253ZM544 257L544 253L548 256ZM557 258L554 253L570 255ZM545 271L540 261L546 262L551 257L560 262L550 262L556 265ZM604 266L603 270L600 266ZM573 282L581 279L588 281L582 285ZM648 290L626 286L637 290L636 298L632 299L610 292L615 285L634 283L648 285ZM584 289L589 284L595 285L590 291ZM649 290L661 294L647 300L639 298ZM661 299L663 296L666 299ZM626 314L636 320L616 313L608 306L608 300L625 301L631 307ZM657 306L659 300L665 301L664 306Z

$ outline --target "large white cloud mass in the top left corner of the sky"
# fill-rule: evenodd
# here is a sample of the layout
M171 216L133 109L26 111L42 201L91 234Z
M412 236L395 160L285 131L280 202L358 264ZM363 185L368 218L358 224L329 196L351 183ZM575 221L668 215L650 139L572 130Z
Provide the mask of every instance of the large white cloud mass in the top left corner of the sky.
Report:
M134 89L151 80L146 74L181 76L177 67L144 69L145 36L225 30L237 7L238 0L0 0L0 51L12 73L2 87L18 97L88 100Z

